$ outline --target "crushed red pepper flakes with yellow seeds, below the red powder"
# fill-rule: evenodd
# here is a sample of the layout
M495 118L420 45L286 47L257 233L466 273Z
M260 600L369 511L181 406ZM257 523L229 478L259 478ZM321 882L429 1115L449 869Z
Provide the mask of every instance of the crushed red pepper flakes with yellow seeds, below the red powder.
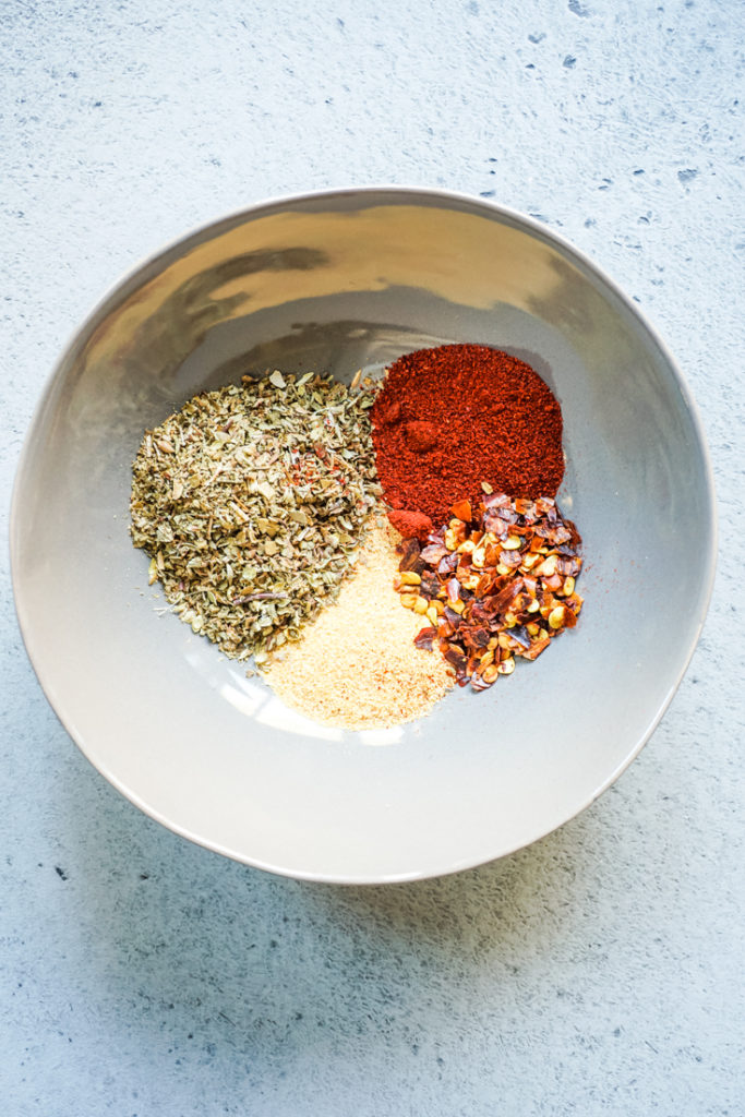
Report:
M575 580L582 540L551 497L485 494L476 513L459 500L453 518L422 546L405 540L394 589L429 624L418 648L439 649L460 686L490 687L515 659L535 660L582 609Z

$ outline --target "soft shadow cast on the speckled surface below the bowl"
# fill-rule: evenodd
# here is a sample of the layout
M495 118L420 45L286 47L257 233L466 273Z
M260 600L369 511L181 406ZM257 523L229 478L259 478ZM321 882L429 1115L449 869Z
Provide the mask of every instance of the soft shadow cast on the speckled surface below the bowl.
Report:
M142 1041L165 1031L184 1052L237 1046L267 1063L304 1058L324 1029L372 1037L385 1021L404 1039L412 1018L447 1019L451 1000L486 972L505 990L518 974L544 972L586 909L610 840L591 809L455 876L298 882L184 841L82 757L60 776L86 995L114 1032L134 1025Z

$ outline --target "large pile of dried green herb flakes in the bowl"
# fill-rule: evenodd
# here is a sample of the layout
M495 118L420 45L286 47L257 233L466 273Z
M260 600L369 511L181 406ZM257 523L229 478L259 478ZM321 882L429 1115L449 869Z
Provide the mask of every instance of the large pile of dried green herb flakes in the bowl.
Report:
M261 661L338 592L381 495L374 395L369 381L245 376L146 431L133 543L151 584L228 656Z

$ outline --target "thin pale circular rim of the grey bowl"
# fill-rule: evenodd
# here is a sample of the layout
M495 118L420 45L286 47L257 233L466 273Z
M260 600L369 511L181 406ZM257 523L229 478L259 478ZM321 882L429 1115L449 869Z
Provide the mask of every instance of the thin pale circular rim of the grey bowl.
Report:
M411 870L402 873L384 873L384 875L361 875L361 876L338 876L337 873L321 873L316 871L299 871L297 869L288 869L286 867L269 863L261 860L260 858L251 858L245 853L227 848L220 842L210 841L200 834L191 832L188 828L180 825L171 821L164 814L162 814L152 804L146 803L141 799L140 794L131 789L124 781L120 780L112 771L106 766L101 765L93 760L92 753L94 750L88 746L83 734L78 733L75 725L75 720L69 714L66 714L64 709L64 703L60 700L59 696L56 695L56 689L54 680L49 678L48 671L41 666L39 655L36 651L32 624L27 615L23 601L18 588L19 572L17 569L18 563L18 522L20 517L20 490L22 487L23 475L27 469L27 464L30 458L31 447L35 443L35 435L37 433L37 427L41 422L42 414L49 402L52 388L61 373L68 359L74 353L76 346L84 340L87 338L95 328L99 319L102 319L108 311L112 308L112 304L121 296L121 292L127 285L133 283L141 273L153 268L163 260L175 249L184 249L189 246L190 241L203 238L206 233L212 233L218 236L220 233L221 227L230 227L240 219L250 220L262 216L262 213L269 213L273 209L287 209L293 206L302 206L313 202L332 201L334 199L342 200L344 198L370 198L371 200L375 197L380 197L381 204L395 204L402 203L405 199L421 199L427 198L431 201L440 201L443 204L458 203L467 206L471 209L483 210L483 216L490 219L506 219L513 222L517 227L523 227L527 232L537 236L539 239L547 241L548 244L556 247L561 252L565 254L570 258L573 258L585 269L596 276L605 286L612 292L612 294L620 300L620 303L631 313L631 315L639 322L639 324L646 330L651 342L658 347L660 354L667 362L674 379L676 381L680 397L688 410L691 427L698 443L698 448L701 454L703 466L704 466L704 477L706 497L708 504L708 524L707 540L708 546L703 548L705 555L703 579L701 579L701 593L700 593L700 613L697 627L694 634L690 638L689 646L685 651L680 660L679 670L675 677L674 682L668 688L667 693L662 696L657 713L655 717L650 720L649 725L646 727L644 732L640 734L639 738L634 743L633 747L629 751L624 760L619 764L611 773L603 780L593 792L569 815L562 823L556 825L550 825L545 830L542 830L529 841L517 842L514 847L503 849L502 851L495 853L489 858L478 858L474 860L472 858L466 859L462 863L455 863L443 867L441 870L431 871L429 869L424 870ZM693 659L694 652L698 646L704 624L708 614L711 595L714 592L714 583L716 576L716 564L718 555L718 513L717 513L717 502L716 502L716 488L714 483L714 469L711 464L711 456L704 430L704 424L700 418L700 411L694 395L688 386L686 378L684 376L677 360L672 355L666 342L662 340L656 327L648 319L646 313L634 303L629 295L613 280L602 267L595 264L582 249L577 248L569 238L560 232L556 232L553 228L545 225L537 218L531 217L531 214L525 213L518 209L509 206L504 206L500 202L495 202L490 198L484 198L476 194L469 194L464 191L446 190L426 185L401 185L397 183L370 183L366 185L346 185L336 188L324 188L321 190L304 191L300 193L280 193L274 194L269 198L261 199L258 202L254 202L249 206L238 207L230 210L217 218L212 218L208 221L200 222L192 226L185 232L178 237L171 238L166 242L162 244L153 252L147 256L140 257L131 267L128 267L124 273L122 273L117 279L109 284L105 289L103 295L96 300L92 309L85 316L83 322L77 325L68 335L66 343L61 346L59 356L55 361L51 370L47 374L41 390L39 392L37 402L35 404L31 419L29 421L26 436L21 446L21 450L16 465L15 479L12 486L12 494L10 500L10 517L9 517L9 550L10 550L10 574L11 574L11 585L13 592L13 601L16 607L16 614L18 619L19 629L26 647L27 655L31 662L31 667L36 674L39 685L49 701L52 710L55 712L59 723L65 728L66 733L73 738L75 744L78 746L83 755L90 763L90 765L98 772L104 779L115 787L125 799L127 799L133 805L137 806L145 815L160 822L168 830L173 833L179 834L182 838L188 839L197 846L204 849L209 849L212 852L220 853L223 857L228 857L233 861L249 866L251 868L261 869L267 872L275 873L277 876L288 877L295 880L307 880L316 881L321 884L341 884L341 885L382 885L392 882L407 882L422 879L432 879L436 877L445 877L456 872L462 872L467 869L476 868L479 865L488 865L493 860L499 860L503 857L508 857L512 853L517 852L519 849L524 849L527 846L533 844L536 841L547 837L547 834L553 833L555 830L561 829L572 819L575 819L579 814L585 811L592 803L595 802L615 781L623 774L623 772L630 766L630 764L637 758L641 750L644 747L647 742L650 739L657 727L659 726L662 717L665 716L667 709L672 701L672 698L680 686L680 682L686 675L690 661Z

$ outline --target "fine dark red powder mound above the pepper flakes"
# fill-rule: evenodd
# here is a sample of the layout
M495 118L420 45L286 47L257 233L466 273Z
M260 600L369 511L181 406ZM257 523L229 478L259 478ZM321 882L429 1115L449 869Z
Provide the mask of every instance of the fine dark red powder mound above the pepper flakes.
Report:
M399 357L371 417L386 502L436 524L457 500L476 507L484 483L553 497L564 475L558 401L529 364L486 345Z

